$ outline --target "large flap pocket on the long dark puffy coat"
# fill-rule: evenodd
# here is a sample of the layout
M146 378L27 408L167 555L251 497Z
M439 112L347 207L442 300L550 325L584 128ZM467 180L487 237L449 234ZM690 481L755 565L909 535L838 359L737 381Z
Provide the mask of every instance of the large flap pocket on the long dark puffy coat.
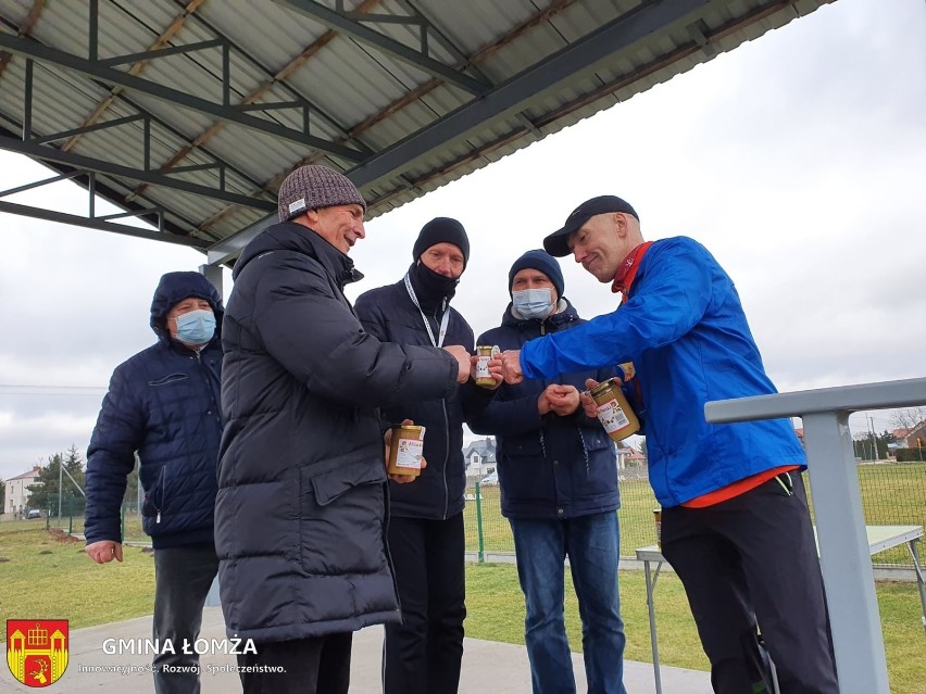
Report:
M378 462L325 472L300 470L299 550L310 576L348 576L387 566L386 471Z

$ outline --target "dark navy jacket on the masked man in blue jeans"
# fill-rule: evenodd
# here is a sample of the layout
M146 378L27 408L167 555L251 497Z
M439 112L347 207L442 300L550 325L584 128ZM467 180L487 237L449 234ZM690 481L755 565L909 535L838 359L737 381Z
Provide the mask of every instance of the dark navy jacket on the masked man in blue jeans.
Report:
M545 320L516 318L509 304L502 325L479 337L479 344L520 350L543 332L574 328L584 320L563 299L561 311ZM502 383L481 416L470 422L476 433L496 434L502 514L508 518L564 519L614 510L621 505L614 444L598 419L581 405L570 416L540 415L537 400L552 382L579 392L585 380L603 381L616 368L568 374L555 381Z

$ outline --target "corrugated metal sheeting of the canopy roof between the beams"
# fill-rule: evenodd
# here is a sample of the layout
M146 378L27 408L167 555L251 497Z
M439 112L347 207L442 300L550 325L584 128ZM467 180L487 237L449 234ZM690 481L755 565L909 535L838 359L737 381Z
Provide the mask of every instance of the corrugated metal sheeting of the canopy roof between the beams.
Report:
M388 39L373 47L358 38L331 34L318 20L287 8L285 1L204 2L185 15L184 7L170 0L100 0L101 56L145 51L164 36L168 36L172 46L227 39L235 46L229 74L233 105L249 94L256 94L250 98L261 103L304 100L313 104L310 136L342 143L348 133L354 130L362 142L363 151L354 157L359 161L347 161L305 142L227 123L227 118L234 119L234 114L241 110L229 111L223 119L122 87L103 87L65 67L47 66L40 54L36 55L34 128L45 134L77 127L116 93L105 112L95 116L98 122L138 110L150 113L170 125L152 126L153 164L176 161L179 166L188 166L218 159L230 167L226 189L242 194L260 194L258 191L267 185L275 188L280 176L301 162L323 162L343 171L356 167L355 172L364 172L391 152L389 165L381 171L373 169L375 174L368 178L373 182L364 188L372 201L371 215L376 215L825 3L818 0L692 3L693 11L688 17L658 27L631 46L615 46L614 52L597 64L583 65L581 53L574 50L572 60L577 70L572 78L541 88L522 101L505 102L516 104L516 109L499 109L484 118L483 112L477 116L477 111L470 109L475 103L486 103L477 101L480 97L472 93L472 87L464 89L447 79L435 80L426 66L390 52L390 40L417 50L417 29L409 25L361 22L364 29L379 31ZM411 5L402 0L345 4L350 9L365 7L371 13L403 17L412 14ZM325 7L335 5L326 2ZM645 17L672 16L678 5L639 0L418 0L415 7L434 25L428 35L429 59L440 65L454 65L460 62L458 53L462 53L472 68L461 79L485 76L497 85L486 99L498 103L499 97L508 93L508 85L517 84L525 71L574 47L617 17L628 12L640 12ZM0 31L5 36L16 34L32 9L30 0L0 0ZM86 59L89 11L87 3L47 3L29 36L52 49ZM696 28L691 28L691 17L698 17ZM703 42L699 31L709 40L706 48L698 45ZM14 51L13 60L0 74L3 90L0 117L13 133L23 113L23 52L28 51L23 48ZM560 59L558 62L563 64ZM284 68L287 72L280 75ZM127 71L128 65L118 70ZM149 60L139 76L218 103L221 73L221 51L213 48ZM302 114L297 109L246 113L264 123L295 130L302 128ZM222 123L221 127L215 127L216 123ZM531 129L531 123L539 131ZM448 124L453 124L453 128L448 128ZM434 136L440 126L446 130L442 143ZM82 136L74 151L132 165L139 155L139 125L125 125ZM326 144L326 149L329 147ZM187 150L186 156L178 157L179 152ZM177 178L217 186L215 171L180 174ZM410 181L414 187L410 187ZM118 191L128 194L138 186L136 181L113 180L112 187L117 191L115 194ZM174 210L177 218L185 219L185 228L205 224L218 236L228 236L235 225L248 226L263 217L260 211L172 188L149 186L145 194Z

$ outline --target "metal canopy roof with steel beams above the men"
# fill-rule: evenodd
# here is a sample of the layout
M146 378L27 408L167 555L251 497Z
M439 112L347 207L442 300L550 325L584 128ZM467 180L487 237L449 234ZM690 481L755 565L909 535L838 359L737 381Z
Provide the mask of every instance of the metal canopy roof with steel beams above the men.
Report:
M827 1L0 0L0 148L58 174L0 211L234 262L296 166L376 216ZM86 217L8 200L61 178Z

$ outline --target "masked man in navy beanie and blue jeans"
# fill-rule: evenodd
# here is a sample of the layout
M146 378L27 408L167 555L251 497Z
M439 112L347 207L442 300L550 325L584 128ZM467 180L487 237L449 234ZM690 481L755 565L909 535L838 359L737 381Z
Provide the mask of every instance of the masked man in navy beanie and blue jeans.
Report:
M500 327L479 344L517 350L543 335L585 323L563 296L556 258L528 251L509 272L512 301ZM612 366L558 378L502 384L470 422L495 434L502 515L514 535L527 616L524 639L534 694L575 692L563 615L568 556L583 624L589 694L624 694L624 622L617 591L621 505L614 444L579 403L586 379L605 380Z

